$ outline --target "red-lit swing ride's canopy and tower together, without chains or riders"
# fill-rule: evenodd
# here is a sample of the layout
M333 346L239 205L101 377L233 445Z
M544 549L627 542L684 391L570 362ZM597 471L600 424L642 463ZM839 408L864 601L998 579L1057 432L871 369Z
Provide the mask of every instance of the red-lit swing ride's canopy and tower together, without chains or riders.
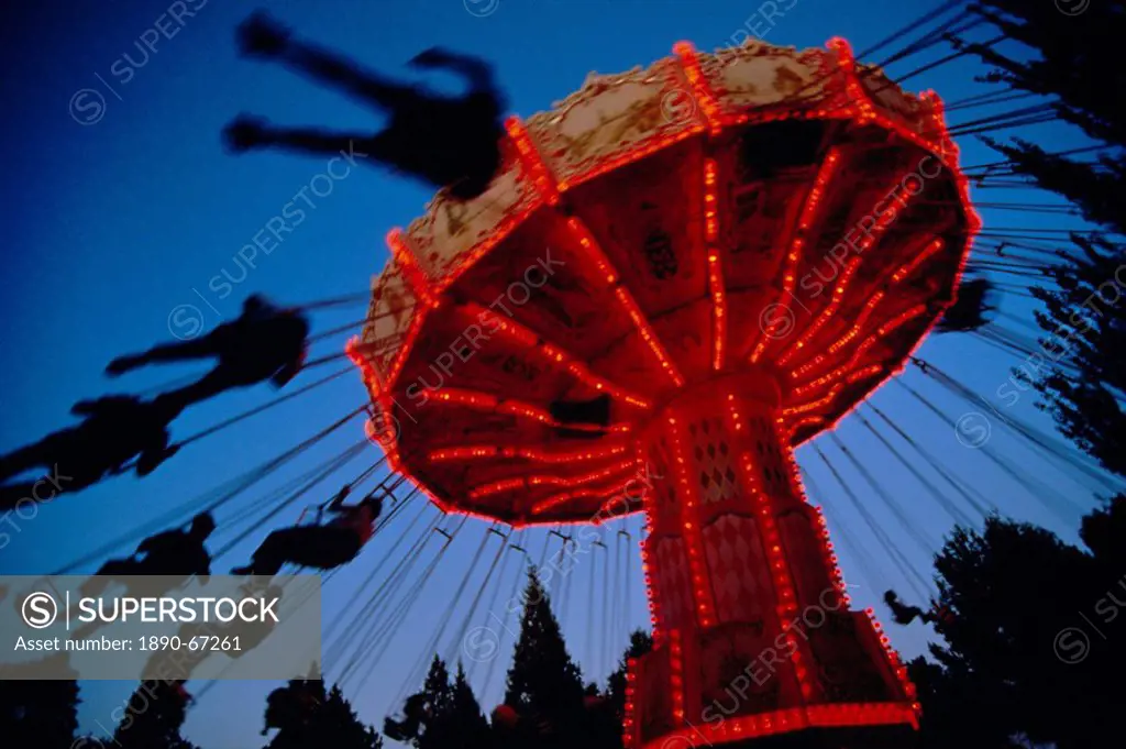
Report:
M645 514L626 746L901 739L914 688L793 452L955 300L980 221L940 100L839 38L680 43L507 131L480 198L387 237L347 349L369 437L445 512Z

